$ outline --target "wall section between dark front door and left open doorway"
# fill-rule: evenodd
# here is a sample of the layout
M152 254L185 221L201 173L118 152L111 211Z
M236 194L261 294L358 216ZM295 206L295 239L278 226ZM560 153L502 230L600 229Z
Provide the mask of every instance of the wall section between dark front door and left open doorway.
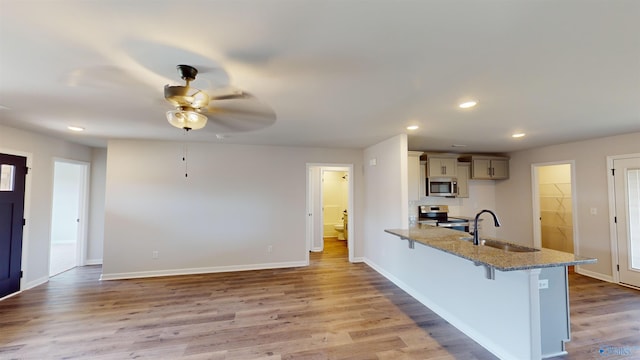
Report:
M91 148L37 133L0 125L0 152L27 156L31 169L27 175L23 235L21 288L49 279L49 239L53 199L53 159L90 161Z

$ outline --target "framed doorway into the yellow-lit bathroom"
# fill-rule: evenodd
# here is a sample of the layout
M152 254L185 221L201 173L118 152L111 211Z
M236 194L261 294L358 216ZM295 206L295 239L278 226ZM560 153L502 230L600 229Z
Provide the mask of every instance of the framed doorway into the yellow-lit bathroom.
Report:
M309 251L321 252L324 238L334 236L344 238L338 241L345 242L354 261L353 188L352 164L307 164L307 263ZM338 224L343 224L341 236Z

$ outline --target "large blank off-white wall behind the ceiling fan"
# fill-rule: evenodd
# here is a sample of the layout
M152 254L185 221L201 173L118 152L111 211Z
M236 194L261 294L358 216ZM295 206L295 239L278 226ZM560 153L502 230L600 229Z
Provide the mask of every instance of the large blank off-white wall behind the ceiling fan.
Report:
M185 178L182 154L182 143L109 142L103 278L302 265L306 164L362 167L361 150L190 143Z

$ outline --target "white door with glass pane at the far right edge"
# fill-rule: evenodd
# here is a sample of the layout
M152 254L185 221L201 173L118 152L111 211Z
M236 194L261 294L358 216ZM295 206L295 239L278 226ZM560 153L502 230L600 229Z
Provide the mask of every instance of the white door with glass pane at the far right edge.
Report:
M640 157L614 159L619 281L640 287Z

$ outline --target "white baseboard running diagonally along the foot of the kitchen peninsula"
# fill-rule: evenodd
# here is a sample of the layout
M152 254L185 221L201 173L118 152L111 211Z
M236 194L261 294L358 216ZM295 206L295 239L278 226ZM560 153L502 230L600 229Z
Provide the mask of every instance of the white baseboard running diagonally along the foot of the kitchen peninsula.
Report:
M398 286L404 292L406 292L411 297L416 299L422 305L428 307L431 311L433 311L438 316L440 316L441 318L443 318L444 320L449 322L453 327L455 327L458 330L460 330L462 333L464 333L465 335L467 335L468 337L473 339L475 342L480 344L482 347L487 349L489 352L491 352L492 354L494 354L498 358L503 359L503 360L504 359L518 360L518 359L513 358L512 354L510 354L508 351L505 351L505 349L503 349L502 347L498 346L498 344L493 342L491 339L487 338L485 335L479 333L475 329L467 326L467 323L462 321L455 314L453 314L453 313L451 313L449 311L446 311L442 307L440 307L437 304L431 302L422 293L420 293L419 291L415 290L414 288L412 288L411 286L407 285L406 283L404 283L400 279L396 278L395 276L391 275L390 273L386 272L381 267L377 266L374 262L371 261L371 259L364 258L364 263L367 264L369 267L371 267L376 272L378 272L380 275L382 275L385 278L387 278L387 280L389 280L392 283L394 283L396 286ZM539 271L538 271L538 274L539 274ZM536 274L536 276L538 274ZM536 285L535 285L536 286L536 291L538 291L537 290L537 283L538 283L537 280L535 281L535 283L536 283ZM470 306L473 306L473 305L470 303Z

